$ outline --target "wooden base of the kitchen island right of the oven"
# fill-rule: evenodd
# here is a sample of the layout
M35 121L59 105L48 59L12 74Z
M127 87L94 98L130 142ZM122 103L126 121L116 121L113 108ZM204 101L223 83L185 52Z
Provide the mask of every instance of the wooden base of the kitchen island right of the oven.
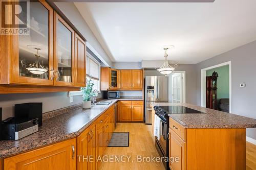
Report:
M186 129L170 118L172 170L246 169L246 132L242 129Z

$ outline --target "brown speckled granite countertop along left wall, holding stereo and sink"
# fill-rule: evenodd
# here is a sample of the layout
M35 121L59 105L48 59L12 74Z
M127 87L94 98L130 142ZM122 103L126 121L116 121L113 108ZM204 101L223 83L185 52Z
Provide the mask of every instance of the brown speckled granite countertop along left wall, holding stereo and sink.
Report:
M143 100L143 99L114 99L108 100L112 103L108 106L92 106L91 109L81 107L65 111L52 118L43 120L38 132L16 141L0 141L0 159L29 151L45 145L70 139L78 136L88 128L101 114L108 110L117 101L121 100ZM52 116L52 115L51 115ZM44 117L44 114L43 114Z

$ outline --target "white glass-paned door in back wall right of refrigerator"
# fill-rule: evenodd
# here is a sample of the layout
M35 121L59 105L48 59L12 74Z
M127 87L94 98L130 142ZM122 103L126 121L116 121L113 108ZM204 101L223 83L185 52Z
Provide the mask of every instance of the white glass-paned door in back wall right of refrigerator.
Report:
M168 101L171 103L185 103L186 102L186 82L185 71L174 71L168 75Z

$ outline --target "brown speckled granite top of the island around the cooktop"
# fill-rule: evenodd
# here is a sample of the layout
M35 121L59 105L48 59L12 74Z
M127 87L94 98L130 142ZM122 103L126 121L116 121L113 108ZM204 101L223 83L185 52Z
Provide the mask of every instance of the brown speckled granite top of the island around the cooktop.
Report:
M206 114L168 114L184 128L256 128L256 119L191 104L153 103L153 106L185 106Z

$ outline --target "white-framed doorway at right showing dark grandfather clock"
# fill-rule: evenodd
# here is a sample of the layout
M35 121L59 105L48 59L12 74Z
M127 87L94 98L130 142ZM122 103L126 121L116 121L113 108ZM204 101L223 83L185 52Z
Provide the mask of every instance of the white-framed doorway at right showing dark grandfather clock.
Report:
M226 90L227 95L225 96L225 98L229 99L228 100L229 101L229 113L231 113L231 108L232 108L232 106L231 106L231 101L232 101L232 98L231 98L231 61L201 69L201 106L206 107L206 76L209 76L208 75L209 71L211 73L213 70L217 70L218 68L225 67L225 66L228 66L227 67L228 68L228 75L225 78L225 79L228 80L228 88ZM221 82L221 83L223 83L223 82ZM219 88L219 92L222 89ZM217 93L218 93L218 80L217 80ZM221 96L219 96L219 99L218 99L218 94L217 94L218 104L220 104L220 97ZM223 99L221 101L226 102L225 100L226 99Z

